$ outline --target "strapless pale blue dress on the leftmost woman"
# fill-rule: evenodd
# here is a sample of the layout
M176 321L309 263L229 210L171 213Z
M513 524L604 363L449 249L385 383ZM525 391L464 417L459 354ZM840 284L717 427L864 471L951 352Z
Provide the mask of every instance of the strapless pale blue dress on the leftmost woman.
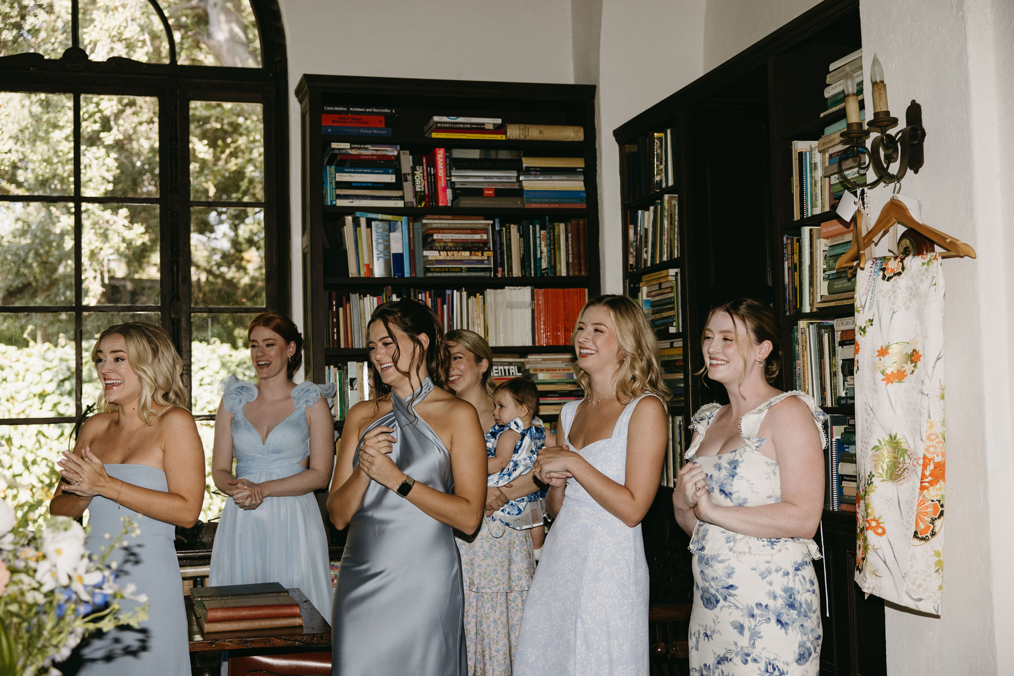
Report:
M165 472L148 465L107 464L110 476L152 491L168 491ZM110 560L117 561L117 584L137 585L138 594L148 595L148 619L139 628L118 626L85 639L77 649L81 667L66 674L80 676L190 676L190 653L187 643L187 615L179 564L173 546L176 529L170 523L156 521L100 496L88 506L88 551L101 555L101 548L123 531L123 517L138 525L140 535L124 536L126 550L116 549ZM138 604L123 599L123 608ZM74 662L74 659L71 660Z

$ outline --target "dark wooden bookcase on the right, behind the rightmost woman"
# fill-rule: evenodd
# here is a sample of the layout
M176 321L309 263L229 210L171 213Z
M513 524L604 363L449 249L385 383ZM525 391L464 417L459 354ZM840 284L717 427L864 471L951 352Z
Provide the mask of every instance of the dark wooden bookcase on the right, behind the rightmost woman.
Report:
M849 304L786 313L782 237L834 218L831 212L793 218L791 142L818 139L824 127L844 117L844 110L820 117L826 107L827 64L861 46L858 0L825 0L613 131L623 157L623 146L641 135L679 130L674 143L679 170L671 190L679 195L687 424L702 404L725 402L721 388L709 388L691 376L703 365L694 336L701 334L710 308L743 296L775 308L782 318L785 390L794 389L791 339L796 322L853 312ZM730 157L746 161L730 162ZM621 184L626 180L622 175ZM628 212L664 194L622 203L625 242ZM626 269L626 249L624 256ZM647 270L625 272L628 289ZM852 406L824 410L854 414ZM685 536L666 500L671 492L659 494L644 521L651 600L689 602L693 579ZM853 580L855 513L825 510L815 537L824 555L814 561L823 619L821 673L886 674L883 601L864 598Z

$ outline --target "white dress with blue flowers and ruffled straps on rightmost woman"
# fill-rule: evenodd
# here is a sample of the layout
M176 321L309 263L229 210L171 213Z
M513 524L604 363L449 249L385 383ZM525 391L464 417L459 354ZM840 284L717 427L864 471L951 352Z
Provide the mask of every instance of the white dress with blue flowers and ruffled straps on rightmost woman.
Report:
M701 441L721 406L709 403L694 416L697 438L686 459L704 468L716 505L752 507L782 501L778 461L758 449L768 409L798 396L820 421L825 415L807 394L783 392L739 422L742 445L734 451L697 456ZM690 663L694 676L733 674L817 674L820 667L820 596L812 559L816 543L806 538L740 535L699 521L691 539L694 553L694 611L691 615Z

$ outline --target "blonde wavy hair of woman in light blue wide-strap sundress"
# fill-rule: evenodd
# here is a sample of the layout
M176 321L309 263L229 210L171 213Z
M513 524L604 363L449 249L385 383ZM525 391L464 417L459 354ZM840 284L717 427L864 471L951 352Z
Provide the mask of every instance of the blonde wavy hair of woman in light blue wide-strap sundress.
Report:
M667 402L672 393L662 384L662 367L658 359L658 340L648 325L644 310L627 296L603 294L595 296L581 308L574 324L571 344L577 335L577 324L584 319L589 307L601 305L609 311L612 329L620 347L620 367L612 376L617 400L630 403L642 394L654 394ZM578 363L574 364L574 377L585 392L591 387L591 376Z

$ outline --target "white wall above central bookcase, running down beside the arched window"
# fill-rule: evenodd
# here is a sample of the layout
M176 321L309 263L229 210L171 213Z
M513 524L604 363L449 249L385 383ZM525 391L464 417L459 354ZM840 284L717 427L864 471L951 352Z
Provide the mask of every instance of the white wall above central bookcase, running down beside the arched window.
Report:
M299 104L304 73L574 80L570 0L279 0L289 59L292 314L303 325Z

